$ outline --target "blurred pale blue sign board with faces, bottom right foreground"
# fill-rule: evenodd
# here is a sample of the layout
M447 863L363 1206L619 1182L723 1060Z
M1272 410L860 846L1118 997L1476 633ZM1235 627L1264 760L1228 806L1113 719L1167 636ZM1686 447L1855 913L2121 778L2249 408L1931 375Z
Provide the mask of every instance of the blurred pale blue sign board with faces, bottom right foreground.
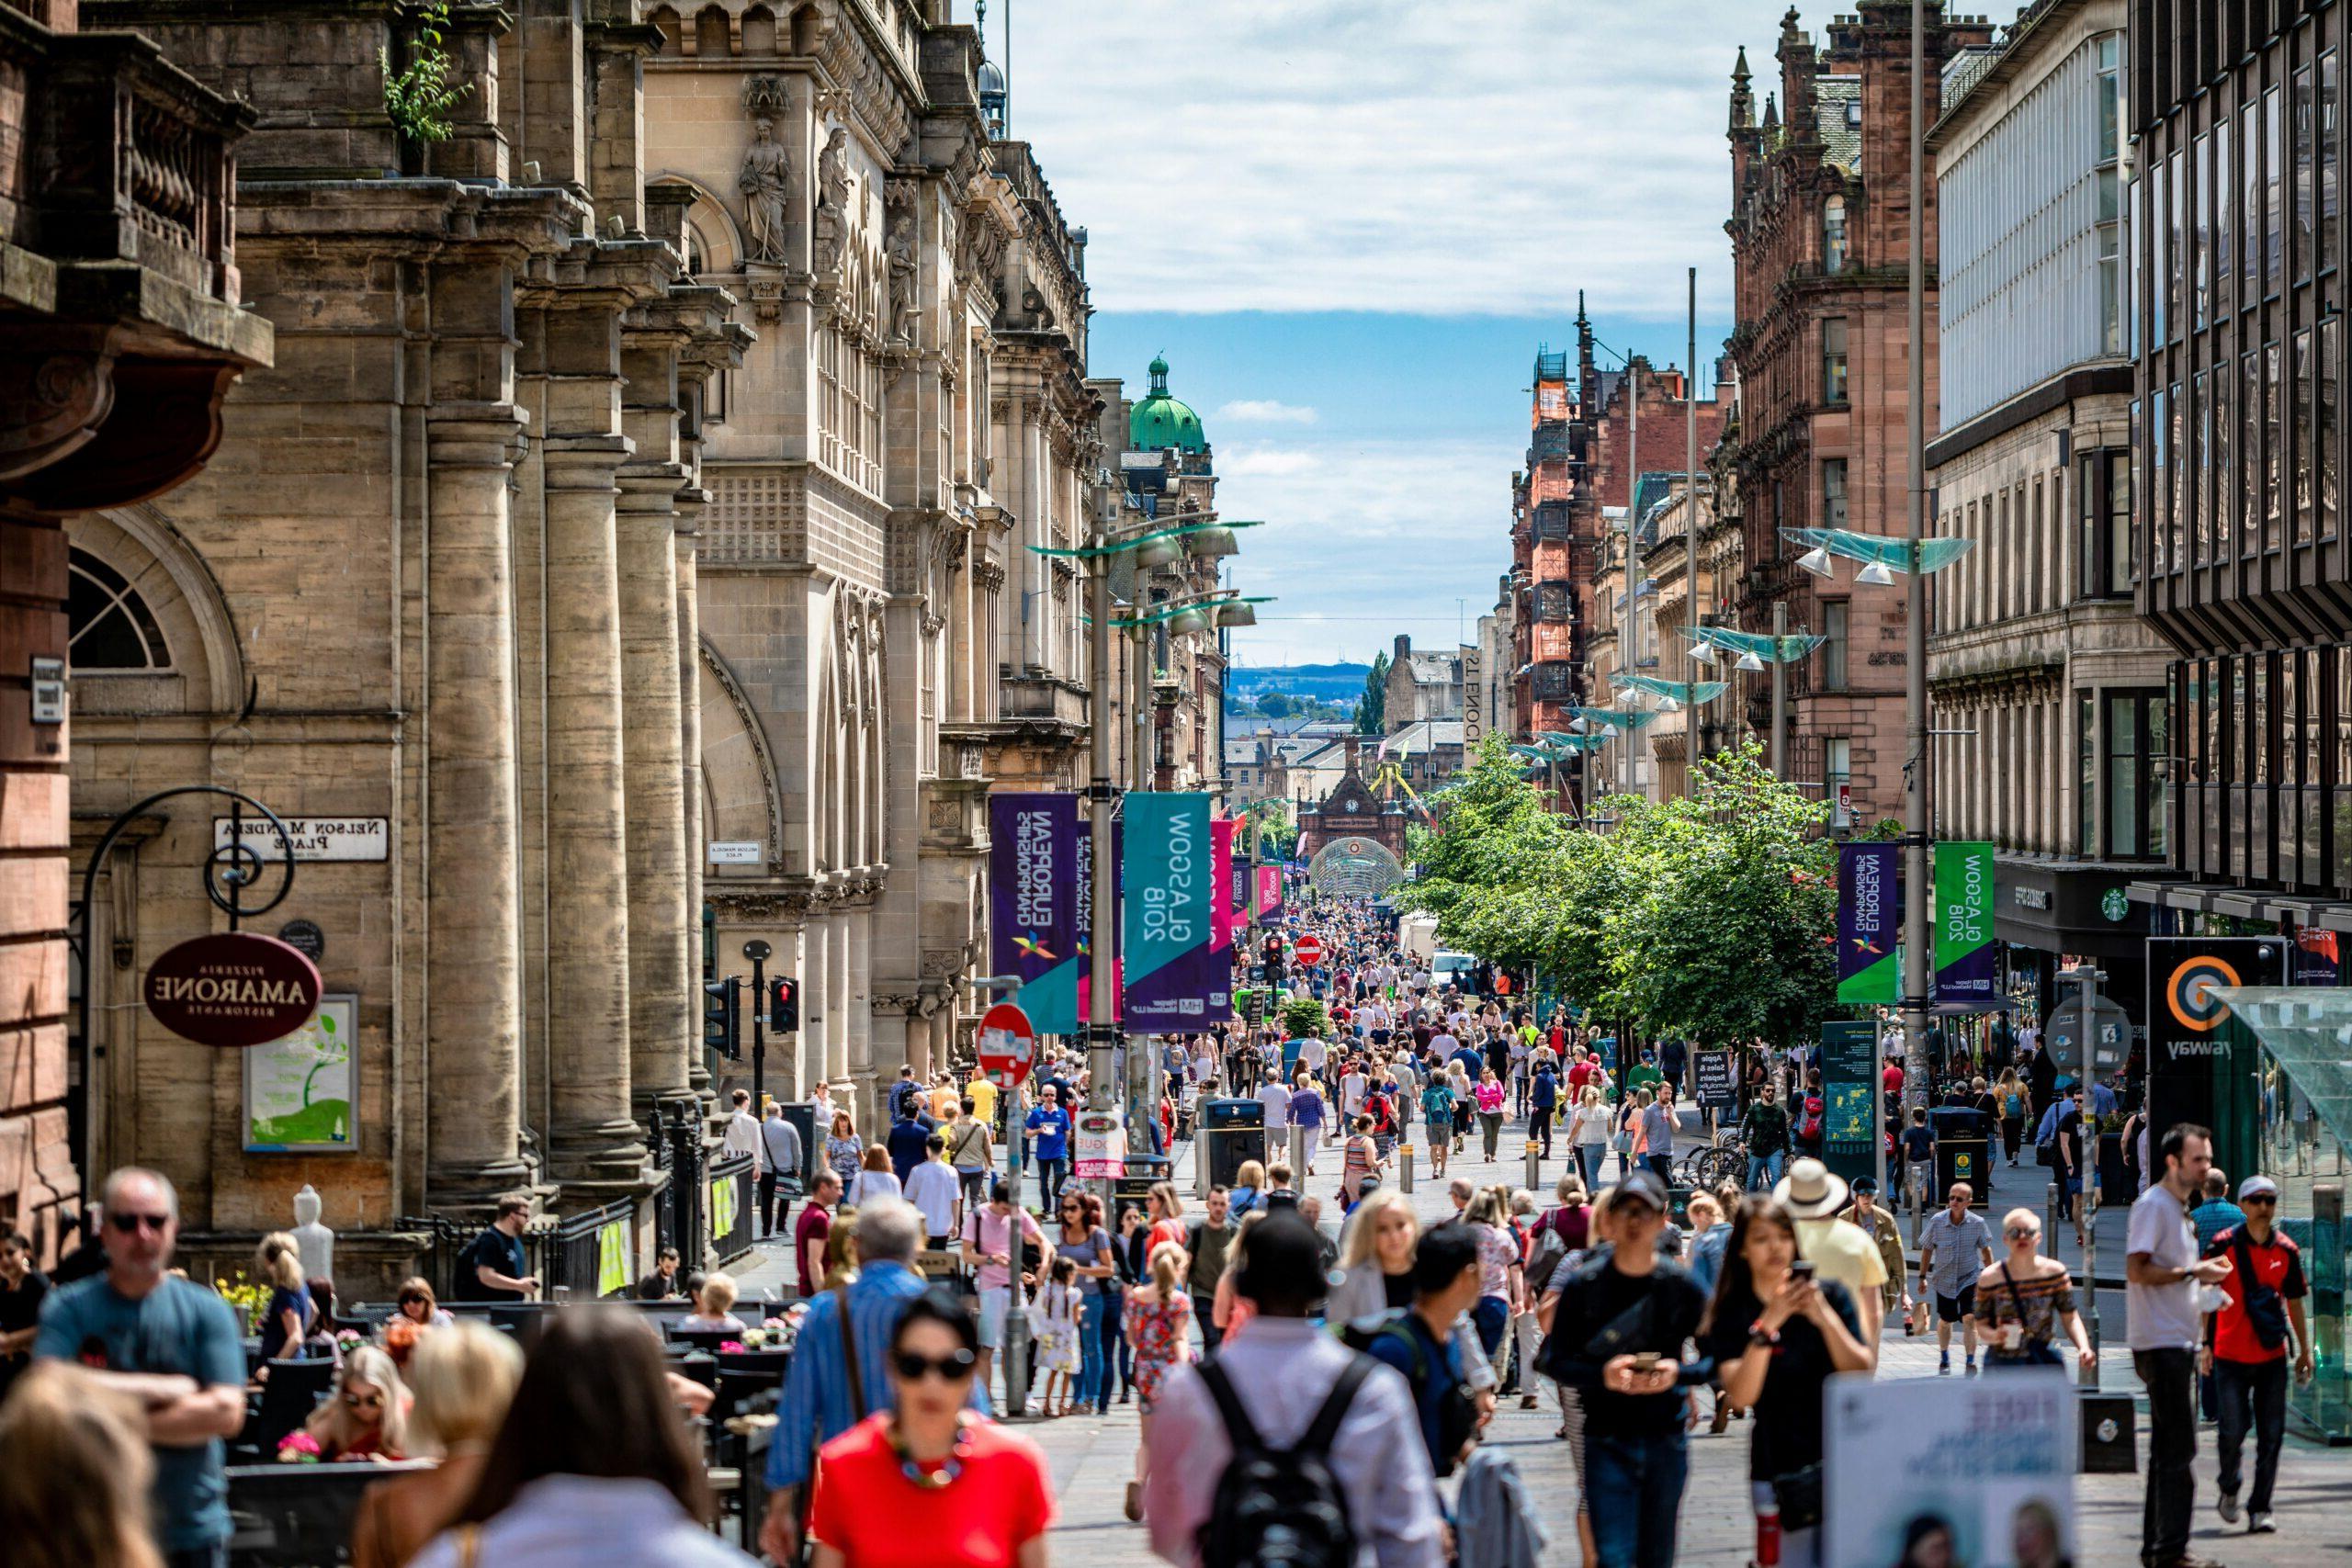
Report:
M2074 1540L2079 1401L2060 1368L1830 1378L1823 1568L2051 1568Z

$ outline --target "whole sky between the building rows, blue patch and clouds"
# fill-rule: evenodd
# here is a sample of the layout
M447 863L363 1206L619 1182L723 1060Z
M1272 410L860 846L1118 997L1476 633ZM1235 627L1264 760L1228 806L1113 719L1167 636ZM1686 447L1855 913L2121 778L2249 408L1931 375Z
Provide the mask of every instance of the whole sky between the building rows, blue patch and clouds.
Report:
M1536 348L1729 331L1724 115L1776 0L997 0L1011 134L1089 230L1091 371L1209 430L1242 663L1444 644L1510 564ZM969 16L969 5L957 7ZM1806 14L1809 26L1828 16Z

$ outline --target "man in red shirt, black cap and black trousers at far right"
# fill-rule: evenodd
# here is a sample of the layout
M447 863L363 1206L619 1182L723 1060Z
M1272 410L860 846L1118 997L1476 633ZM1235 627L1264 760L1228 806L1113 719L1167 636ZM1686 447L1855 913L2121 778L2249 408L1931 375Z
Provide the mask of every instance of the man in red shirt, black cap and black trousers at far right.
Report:
M2246 1497L2246 1533L2267 1535L2270 1488L2279 1479L2279 1443L2286 1436L2286 1331L2293 1326L2296 1380L2312 1380L2312 1335L2303 1319L2303 1255L2274 1225L2279 1182L2249 1175L2237 1187L2246 1222L2206 1244L2220 1258L2220 1312L2206 1314L2206 1345L2197 1371L2213 1373L2220 1408L2220 1516L2237 1523L2239 1455L2253 1425L2253 1493ZM2249 1279L2251 1274L2251 1279Z

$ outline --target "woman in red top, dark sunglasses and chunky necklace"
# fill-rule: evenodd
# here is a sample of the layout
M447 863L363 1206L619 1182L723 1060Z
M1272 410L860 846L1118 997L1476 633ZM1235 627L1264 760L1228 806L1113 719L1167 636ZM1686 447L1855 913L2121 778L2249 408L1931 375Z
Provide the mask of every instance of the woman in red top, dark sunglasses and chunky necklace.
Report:
M889 1345L896 1410L816 1455L814 1568L1044 1568L1044 1455L964 1408L978 1352L978 1328L950 1295L908 1302Z

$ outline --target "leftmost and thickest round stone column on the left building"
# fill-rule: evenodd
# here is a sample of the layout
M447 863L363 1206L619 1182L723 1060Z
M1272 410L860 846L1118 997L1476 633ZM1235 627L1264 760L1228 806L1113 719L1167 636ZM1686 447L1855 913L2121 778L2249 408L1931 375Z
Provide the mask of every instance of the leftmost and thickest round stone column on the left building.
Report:
M508 491L522 414L426 421L426 1135L435 1208L529 1182L517 1147L515 628Z

